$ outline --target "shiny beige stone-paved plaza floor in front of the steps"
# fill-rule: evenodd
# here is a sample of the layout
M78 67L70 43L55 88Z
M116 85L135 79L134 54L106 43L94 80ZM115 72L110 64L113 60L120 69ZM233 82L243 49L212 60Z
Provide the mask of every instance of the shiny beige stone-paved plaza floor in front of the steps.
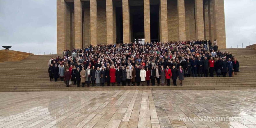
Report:
M256 90L0 92L0 128L255 128Z

